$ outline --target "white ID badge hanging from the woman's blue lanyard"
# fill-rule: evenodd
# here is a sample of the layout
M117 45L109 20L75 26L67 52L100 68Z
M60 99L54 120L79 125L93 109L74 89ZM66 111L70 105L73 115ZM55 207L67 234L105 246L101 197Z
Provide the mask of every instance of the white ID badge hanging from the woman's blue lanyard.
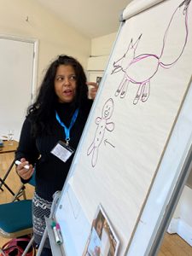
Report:
M63 162L67 162L70 156L74 153L74 149L69 147L66 143L59 141L50 153L54 154Z

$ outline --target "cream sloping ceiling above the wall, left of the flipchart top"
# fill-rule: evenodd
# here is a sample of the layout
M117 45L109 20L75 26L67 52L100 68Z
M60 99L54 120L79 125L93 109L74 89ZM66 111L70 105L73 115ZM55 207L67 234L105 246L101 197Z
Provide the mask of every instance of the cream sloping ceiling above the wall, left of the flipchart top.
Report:
M117 32L119 16L131 0L37 0L87 38Z

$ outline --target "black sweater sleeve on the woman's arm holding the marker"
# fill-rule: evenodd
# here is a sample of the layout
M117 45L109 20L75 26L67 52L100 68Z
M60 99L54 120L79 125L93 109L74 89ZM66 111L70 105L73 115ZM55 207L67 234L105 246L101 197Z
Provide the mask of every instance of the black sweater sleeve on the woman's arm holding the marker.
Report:
M31 126L29 119L26 118L20 132L20 142L15 152L15 160L26 158L26 160L34 166L38 160L39 153L38 148L36 147L36 139L35 137L32 137ZM21 178L22 183L28 183L28 181L29 180L23 180Z

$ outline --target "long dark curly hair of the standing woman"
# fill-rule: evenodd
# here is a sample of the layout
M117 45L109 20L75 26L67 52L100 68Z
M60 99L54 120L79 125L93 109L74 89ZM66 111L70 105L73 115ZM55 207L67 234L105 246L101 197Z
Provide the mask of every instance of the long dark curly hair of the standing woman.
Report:
M39 88L36 101L27 109L27 116L32 122L33 136L43 132L51 133L51 122L49 121L55 116L55 106L58 102L58 96L55 94L55 73L60 65L70 65L75 71L77 87L71 108L80 108L88 98L88 86L84 68L73 57L59 55L49 65Z

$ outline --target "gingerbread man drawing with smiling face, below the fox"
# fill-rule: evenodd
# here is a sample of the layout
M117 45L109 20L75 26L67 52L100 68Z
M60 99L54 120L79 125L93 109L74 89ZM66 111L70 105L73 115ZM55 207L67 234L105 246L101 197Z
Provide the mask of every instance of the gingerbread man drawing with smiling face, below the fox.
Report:
M107 102L102 107L102 117L96 118L96 133L93 142L90 144L90 147L87 150L87 155L92 153L91 165L96 166L98 159L99 146L102 143L105 131L113 131L114 123L110 122L113 113L113 99L109 98Z

